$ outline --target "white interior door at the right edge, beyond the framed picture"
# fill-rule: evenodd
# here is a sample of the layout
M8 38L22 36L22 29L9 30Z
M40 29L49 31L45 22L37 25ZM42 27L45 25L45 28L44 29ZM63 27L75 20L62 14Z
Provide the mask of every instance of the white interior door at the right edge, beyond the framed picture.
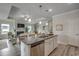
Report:
M69 44L79 46L79 19L69 22Z

